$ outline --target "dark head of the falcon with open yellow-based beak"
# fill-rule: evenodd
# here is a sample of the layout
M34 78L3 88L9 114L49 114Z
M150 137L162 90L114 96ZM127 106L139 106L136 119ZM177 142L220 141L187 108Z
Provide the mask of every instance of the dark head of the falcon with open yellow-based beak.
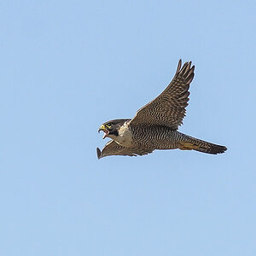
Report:
M103 131L103 139L105 137L118 137L119 136L119 128L125 124L126 121L129 121L131 119L115 119L110 120L104 124L101 125L98 132Z

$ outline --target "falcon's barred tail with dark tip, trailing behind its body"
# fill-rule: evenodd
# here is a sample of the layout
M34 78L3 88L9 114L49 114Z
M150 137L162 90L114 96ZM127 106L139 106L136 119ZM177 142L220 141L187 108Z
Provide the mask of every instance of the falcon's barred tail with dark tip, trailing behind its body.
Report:
M180 142L179 148L182 150L196 150L207 154L222 154L227 150L227 148L224 146L207 143L195 137L189 136L187 136L186 140Z

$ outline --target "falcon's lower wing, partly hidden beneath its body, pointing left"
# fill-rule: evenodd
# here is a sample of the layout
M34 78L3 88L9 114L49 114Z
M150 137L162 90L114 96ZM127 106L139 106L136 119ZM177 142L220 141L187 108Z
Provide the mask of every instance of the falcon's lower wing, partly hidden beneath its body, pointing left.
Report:
M152 153L154 149L137 149L137 148L125 148L116 143L114 140L108 142L105 147L102 149L96 148L97 157L101 159L102 157L108 155L130 155L130 156L137 156L143 154Z

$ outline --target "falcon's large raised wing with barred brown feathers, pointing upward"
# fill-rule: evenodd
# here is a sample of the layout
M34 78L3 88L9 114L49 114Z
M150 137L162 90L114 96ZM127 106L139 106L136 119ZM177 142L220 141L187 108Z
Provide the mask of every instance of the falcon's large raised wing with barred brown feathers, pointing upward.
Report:
M166 125L174 130L177 130L178 125L182 125L195 66L191 67L191 61L185 62L182 68L181 65L182 61L179 60L172 82L160 96L137 111L136 116L131 119L131 124Z

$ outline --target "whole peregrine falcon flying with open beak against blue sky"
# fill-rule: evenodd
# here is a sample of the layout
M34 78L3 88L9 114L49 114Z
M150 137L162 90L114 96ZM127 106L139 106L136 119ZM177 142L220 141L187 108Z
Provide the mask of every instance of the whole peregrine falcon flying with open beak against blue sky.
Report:
M143 155L155 149L196 150L207 154L221 154L224 146L207 143L179 131L189 102L189 84L194 78L191 61L178 61L172 82L160 96L140 108L133 119L113 119L101 125L103 138L109 137L105 147L96 148L98 159L108 155Z

